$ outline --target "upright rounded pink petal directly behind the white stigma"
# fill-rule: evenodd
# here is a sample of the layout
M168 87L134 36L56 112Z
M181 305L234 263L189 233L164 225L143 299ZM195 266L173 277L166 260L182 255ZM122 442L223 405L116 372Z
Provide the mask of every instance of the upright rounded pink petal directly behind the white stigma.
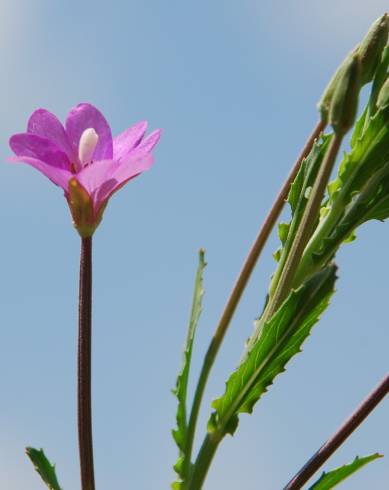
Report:
M75 155L78 155L78 145L82 133L86 129L93 128L99 136L93 159L105 160L112 158L111 128L105 117L93 105L84 103L74 107L66 118L65 128Z

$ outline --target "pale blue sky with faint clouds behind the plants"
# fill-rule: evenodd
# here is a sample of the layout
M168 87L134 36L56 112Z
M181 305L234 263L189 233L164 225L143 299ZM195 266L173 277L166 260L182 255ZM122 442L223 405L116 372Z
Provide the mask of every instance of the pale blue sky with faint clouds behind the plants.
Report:
M114 134L163 128L153 169L110 202L94 240L94 439L98 488L167 489L176 449L170 393L185 338L196 253L204 313L193 373L257 229L317 120L337 64L387 2L3 0L0 156L30 113L98 106ZM75 412L79 239L61 191L27 166L0 166L0 488L42 489L23 454L45 448L79 488ZM304 353L222 444L205 490L277 490L387 369L388 224L338 256L331 308ZM206 393L236 366L277 248L266 247ZM386 457L347 489L389 481L388 401L327 468ZM200 442L200 439L199 441Z

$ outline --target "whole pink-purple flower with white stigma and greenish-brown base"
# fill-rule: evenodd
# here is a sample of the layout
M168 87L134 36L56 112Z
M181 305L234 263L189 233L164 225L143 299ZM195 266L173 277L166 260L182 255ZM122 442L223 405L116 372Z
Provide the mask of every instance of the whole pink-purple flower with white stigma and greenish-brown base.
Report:
M81 236L91 236L108 199L129 180L153 164L152 149L161 131L144 138L141 121L112 138L104 116L91 104L79 104L68 114L65 127L54 114L38 109L27 132L15 134L10 146L16 157L62 187Z

